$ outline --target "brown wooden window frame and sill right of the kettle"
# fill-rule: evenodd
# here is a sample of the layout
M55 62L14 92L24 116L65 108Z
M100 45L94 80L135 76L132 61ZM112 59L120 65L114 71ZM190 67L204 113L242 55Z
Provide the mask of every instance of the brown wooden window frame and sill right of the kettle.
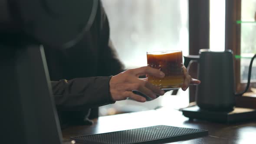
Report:
M241 1L226 0L226 23L225 23L225 49L232 49L234 55L241 54ZM236 92L242 92L246 83L241 82L240 78L240 59L234 59ZM256 87L256 82L251 82L250 87ZM242 96L236 97L236 106L245 108L256 108L256 97Z

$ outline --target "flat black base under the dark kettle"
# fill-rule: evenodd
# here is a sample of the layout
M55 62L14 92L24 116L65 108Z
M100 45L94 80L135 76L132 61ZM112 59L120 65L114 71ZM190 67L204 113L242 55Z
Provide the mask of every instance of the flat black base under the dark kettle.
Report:
M233 111L209 111L198 106L181 109L183 115L190 119L200 119L221 123L250 121L256 119L256 109L234 108Z

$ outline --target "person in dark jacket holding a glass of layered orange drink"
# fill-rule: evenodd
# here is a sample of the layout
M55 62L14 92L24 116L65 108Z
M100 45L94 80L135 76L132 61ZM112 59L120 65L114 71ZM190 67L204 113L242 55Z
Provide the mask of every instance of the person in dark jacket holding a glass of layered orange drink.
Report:
M99 3L95 20L84 38L70 49L48 49L46 61L52 82L53 95L62 128L73 124L91 124L91 108L132 98L146 99L132 93L138 90L151 98L164 95L164 91L147 82L141 75L164 77L158 69L144 66L125 70L109 39L109 24L102 3ZM114 75L114 76L110 76ZM192 79L184 67L183 90Z

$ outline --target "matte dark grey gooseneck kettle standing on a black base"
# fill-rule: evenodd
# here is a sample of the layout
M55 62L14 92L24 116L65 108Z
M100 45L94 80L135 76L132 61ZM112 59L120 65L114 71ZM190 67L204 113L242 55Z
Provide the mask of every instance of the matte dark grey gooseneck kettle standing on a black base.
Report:
M248 90L253 59L249 66L246 89L239 94L235 93L233 59L231 50L213 52L210 49L200 49L199 56L184 56L184 65L188 69L192 62L198 62L197 74L201 83L197 86L196 103L201 109L232 111L235 96L241 96Z

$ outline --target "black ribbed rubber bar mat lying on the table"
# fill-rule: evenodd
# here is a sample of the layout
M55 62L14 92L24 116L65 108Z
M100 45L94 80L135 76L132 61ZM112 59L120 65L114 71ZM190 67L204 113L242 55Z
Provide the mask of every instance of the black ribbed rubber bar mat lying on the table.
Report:
M83 144L158 144L207 136L208 131L166 125L93 134L71 139Z

